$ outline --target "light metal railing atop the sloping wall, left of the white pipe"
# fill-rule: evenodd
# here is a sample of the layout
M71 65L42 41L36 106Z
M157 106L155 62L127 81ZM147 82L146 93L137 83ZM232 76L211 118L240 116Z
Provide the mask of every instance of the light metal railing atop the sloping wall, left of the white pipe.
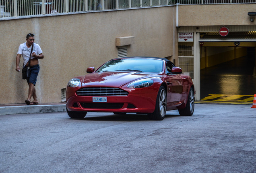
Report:
M0 18L162 6L172 2L172 0L0 0Z

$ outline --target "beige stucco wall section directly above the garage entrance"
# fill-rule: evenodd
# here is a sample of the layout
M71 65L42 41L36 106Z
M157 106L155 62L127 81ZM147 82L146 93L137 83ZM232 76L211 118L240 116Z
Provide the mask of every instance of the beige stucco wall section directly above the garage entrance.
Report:
M256 4L179 5L179 26L255 25Z

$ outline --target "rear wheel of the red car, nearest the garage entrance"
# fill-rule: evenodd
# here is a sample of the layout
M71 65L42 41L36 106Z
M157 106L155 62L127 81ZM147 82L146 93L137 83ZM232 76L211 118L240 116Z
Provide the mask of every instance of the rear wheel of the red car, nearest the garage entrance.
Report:
M194 113L194 107L195 107L194 89L190 88L190 91L188 93L187 105L184 109L179 109L179 114L182 116L191 116Z

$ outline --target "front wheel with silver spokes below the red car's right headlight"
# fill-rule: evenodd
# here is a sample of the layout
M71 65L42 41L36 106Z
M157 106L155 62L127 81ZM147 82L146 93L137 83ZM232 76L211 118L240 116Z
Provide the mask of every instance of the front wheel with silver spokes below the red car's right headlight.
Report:
M155 103L155 111L149 115L149 119L152 120L163 120L166 114L166 90L165 87L161 86L158 94L157 94L157 101Z

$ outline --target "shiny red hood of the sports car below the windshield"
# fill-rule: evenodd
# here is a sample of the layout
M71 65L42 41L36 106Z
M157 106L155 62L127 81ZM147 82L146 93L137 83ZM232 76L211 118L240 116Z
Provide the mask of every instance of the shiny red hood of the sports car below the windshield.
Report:
M82 87L104 86L121 87L122 85L140 78L148 78L156 75L150 72L93 72L83 78Z

